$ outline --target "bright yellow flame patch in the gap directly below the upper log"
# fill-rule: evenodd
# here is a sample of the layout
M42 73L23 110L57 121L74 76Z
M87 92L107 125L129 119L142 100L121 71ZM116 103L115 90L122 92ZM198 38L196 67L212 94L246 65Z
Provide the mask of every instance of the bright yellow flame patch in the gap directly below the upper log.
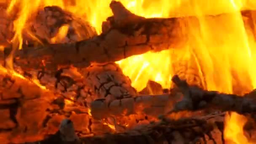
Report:
M157 59L152 59L153 57ZM160 83L163 88L170 88L171 86L170 50L159 53L147 52L139 56L131 56L116 63L120 65L123 73L129 76L132 86L138 91L146 87L148 80Z

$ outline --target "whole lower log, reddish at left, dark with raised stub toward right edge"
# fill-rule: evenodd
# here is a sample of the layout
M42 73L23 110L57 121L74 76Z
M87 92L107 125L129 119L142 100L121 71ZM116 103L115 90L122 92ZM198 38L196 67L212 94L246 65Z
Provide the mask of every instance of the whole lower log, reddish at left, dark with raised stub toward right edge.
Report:
M173 89L171 95L137 96L114 100L110 103L106 103L104 99L99 99L91 103L91 114L95 119L104 119L109 116L117 117L134 114L158 117L172 112L198 111L209 108L234 111L242 115L256 112L255 94L237 96L217 91L205 91L197 86L189 86L186 81L180 80L177 75L172 80L182 94ZM254 96L253 99L248 98L248 96L252 97L252 95ZM168 112L170 110L171 112Z

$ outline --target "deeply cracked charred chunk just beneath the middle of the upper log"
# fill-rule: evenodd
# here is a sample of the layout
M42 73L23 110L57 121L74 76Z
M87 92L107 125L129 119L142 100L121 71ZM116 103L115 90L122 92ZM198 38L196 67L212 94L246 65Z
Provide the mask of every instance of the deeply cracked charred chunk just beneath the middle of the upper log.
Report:
M136 96L135 88L131 86L131 80L125 76L115 63L91 64L90 67L81 70L84 83L97 95L96 99L105 99L107 104L115 99L124 99Z

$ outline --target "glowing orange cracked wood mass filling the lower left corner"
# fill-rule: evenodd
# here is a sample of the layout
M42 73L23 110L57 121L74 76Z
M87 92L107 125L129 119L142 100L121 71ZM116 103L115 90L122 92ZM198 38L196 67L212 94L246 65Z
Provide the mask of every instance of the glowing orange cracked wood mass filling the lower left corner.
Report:
M45 139L56 133L66 118L74 122L75 131L80 136L113 131L101 121L94 120L88 108L70 104L58 93L7 72L0 75L0 114L0 141L3 144Z

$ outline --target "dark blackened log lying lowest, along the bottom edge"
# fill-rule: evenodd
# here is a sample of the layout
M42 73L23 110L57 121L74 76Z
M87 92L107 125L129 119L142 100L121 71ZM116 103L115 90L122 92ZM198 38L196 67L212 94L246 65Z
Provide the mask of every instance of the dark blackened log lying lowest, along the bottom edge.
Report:
M141 125L125 133L81 137L80 141L82 144L224 144L223 120L224 114L163 120ZM244 130L249 141L255 140L253 137L255 131ZM39 142L33 144L39 144ZM40 141L40 144L45 143Z

